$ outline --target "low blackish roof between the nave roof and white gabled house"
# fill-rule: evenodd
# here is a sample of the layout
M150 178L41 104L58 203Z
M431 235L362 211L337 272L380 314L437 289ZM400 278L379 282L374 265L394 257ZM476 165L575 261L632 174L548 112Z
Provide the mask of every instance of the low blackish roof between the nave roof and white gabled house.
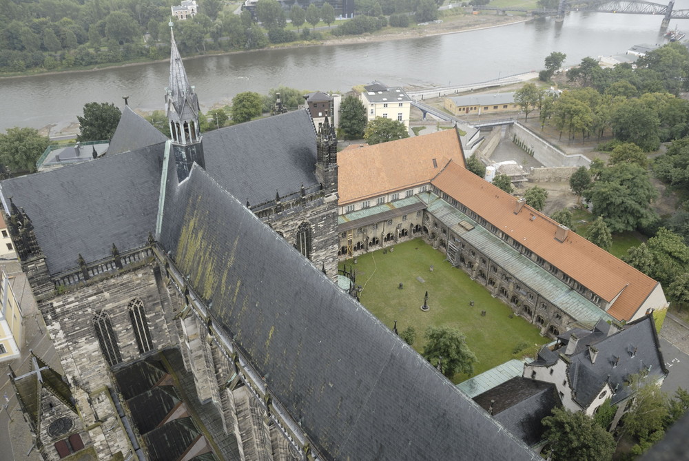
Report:
M474 401L489 411L493 400L493 418L530 447L543 440L541 420L562 404L551 382L516 376L476 396Z

